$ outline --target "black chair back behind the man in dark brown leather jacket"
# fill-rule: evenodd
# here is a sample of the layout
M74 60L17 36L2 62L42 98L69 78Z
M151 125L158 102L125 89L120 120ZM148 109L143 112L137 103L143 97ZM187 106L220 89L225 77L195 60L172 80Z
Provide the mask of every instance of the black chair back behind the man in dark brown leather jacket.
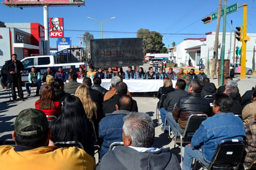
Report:
M183 138L192 138L196 130L198 130L201 123L208 118L206 114L192 114L188 117L188 122L186 123L186 128L183 133Z

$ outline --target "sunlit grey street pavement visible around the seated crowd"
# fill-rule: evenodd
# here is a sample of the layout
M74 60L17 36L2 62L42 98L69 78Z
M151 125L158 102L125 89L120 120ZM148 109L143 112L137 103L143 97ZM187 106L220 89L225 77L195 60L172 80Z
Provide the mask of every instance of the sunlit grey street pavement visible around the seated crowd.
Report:
M147 69L146 69L147 70ZM239 75L235 75L235 80L239 79ZM214 84L217 85L217 79L211 80ZM256 84L256 75L247 75L246 79L242 79L238 81L238 87L240 90L240 94L244 94L245 91L252 89ZM24 89L24 96L27 94ZM34 92L35 94L35 92ZM14 121L16 119L17 114L21 112L21 110L27 108L34 108L35 101L39 99L39 97L34 97L33 93L30 97L27 97L25 101L10 101L8 89L2 89L0 87L0 143L6 140L7 138L11 138L11 132L14 130ZM137 105L139 107L139 112L146 112L152 117L155 122L155 146L157 147L170 147L173 148L174 141L168 137L167 133L163 133L161 130L162 125L158 125L155 115L155 110L157 106L158 99L153 96L149 96L147 93L136 93L132 94L133 99L137 101ZM178 155L179 149L172 149L174 153L177 154L178 159L180 156Z

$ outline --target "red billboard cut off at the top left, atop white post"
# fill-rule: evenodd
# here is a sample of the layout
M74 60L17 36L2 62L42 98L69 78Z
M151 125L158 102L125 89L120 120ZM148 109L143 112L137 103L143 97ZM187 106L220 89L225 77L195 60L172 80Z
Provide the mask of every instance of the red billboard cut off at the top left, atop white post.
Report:
M25 6L81 6L85 5L85 0L4 0L2 4L9 7L25 7Z

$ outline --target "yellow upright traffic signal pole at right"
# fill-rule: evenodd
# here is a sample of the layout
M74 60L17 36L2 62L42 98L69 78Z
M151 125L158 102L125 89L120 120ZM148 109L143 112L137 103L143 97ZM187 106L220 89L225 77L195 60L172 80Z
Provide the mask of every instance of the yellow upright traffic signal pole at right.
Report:
M241 53L241 73L240 79L245 79L246 74L246 43L250 40L250 37L247 37L247 6L248 4L243 4L244 6L244 18L243 18L243 29L242 29L242 53Z

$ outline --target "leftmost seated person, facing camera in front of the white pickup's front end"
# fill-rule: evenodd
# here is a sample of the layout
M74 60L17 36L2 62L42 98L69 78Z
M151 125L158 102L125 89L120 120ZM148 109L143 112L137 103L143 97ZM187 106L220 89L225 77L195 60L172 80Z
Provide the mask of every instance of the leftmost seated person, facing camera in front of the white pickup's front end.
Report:
M35 96L39 96L39 90L41 86L41 74L37 72L37 69L32 66L31 72L29 73L29 82L25 83L25 89L27 90L27 96L30 96L30 86L36 86L37 91L35 92Z

